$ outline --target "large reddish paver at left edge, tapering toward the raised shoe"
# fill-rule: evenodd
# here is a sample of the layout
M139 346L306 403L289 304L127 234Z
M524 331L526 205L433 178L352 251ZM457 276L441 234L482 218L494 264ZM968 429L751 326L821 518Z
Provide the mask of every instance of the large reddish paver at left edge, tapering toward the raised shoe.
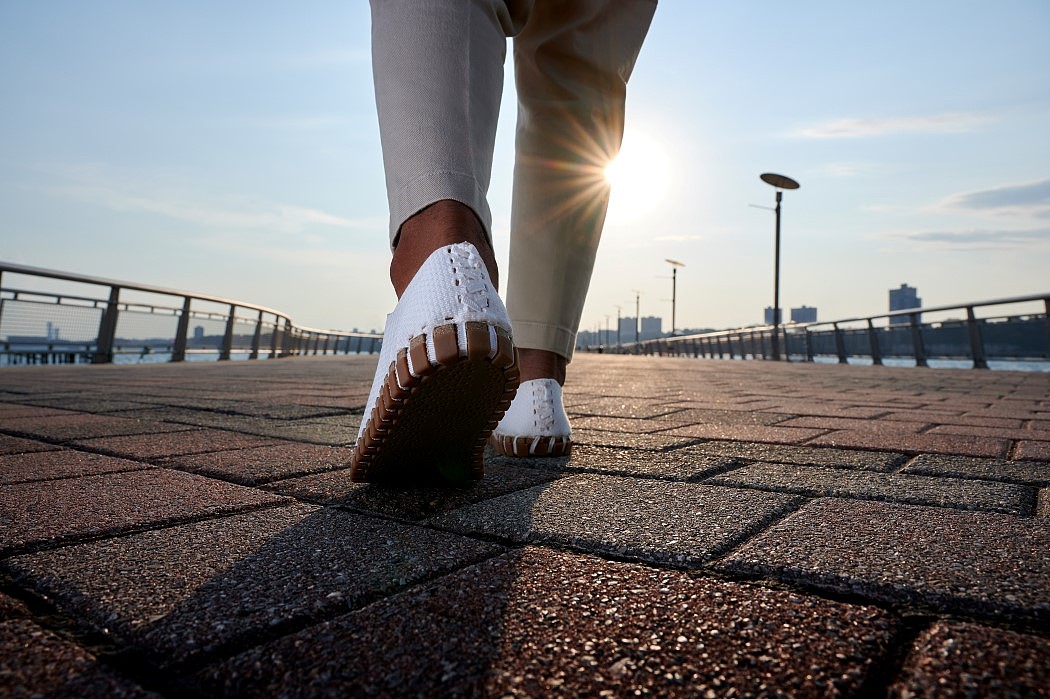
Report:
M272 493L165 469L0 486L0 552L279 502Z

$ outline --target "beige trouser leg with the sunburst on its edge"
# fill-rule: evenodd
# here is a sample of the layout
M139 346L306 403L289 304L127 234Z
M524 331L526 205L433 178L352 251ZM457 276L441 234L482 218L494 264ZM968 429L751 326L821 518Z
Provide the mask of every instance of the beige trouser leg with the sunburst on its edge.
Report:
M507 310L520 347L571 358L655 0L537 0L514 39L517 158Z

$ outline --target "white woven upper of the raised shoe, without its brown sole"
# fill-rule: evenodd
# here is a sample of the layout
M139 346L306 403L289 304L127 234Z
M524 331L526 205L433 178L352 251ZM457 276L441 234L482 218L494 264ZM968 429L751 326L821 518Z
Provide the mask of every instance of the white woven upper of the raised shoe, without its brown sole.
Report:
M430 253L404 290L397 306L386 316L379 366L372 382L369 402L364 406L361 427L357 431L358 439L369 422L383 379L390 370L391 362L397 359L398 352L407 347L413 337L426 334L426 354L432 362L436 362L434 329L456 323L459 346L462 348L466 346L465 323L469 321L485 322L510 334L510 318L506 306L492 287L478 249L469 242L458 242ZM494 339L492 347L496 345Z

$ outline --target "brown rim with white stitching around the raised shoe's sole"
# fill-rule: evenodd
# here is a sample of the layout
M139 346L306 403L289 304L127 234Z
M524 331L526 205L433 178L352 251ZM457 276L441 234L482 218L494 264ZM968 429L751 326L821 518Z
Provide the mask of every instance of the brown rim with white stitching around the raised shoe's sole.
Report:
M518 354L510 335L502 327L489 323L471 321L464 323L465 345L460 346L458 327L455 323L434 329L435 361L426 352L426 334L413 337L407 347L398 351L391 362L386 377L379 388L379 396L369 424L354 445L351 458L351 481L357 483L390 480L395 473L383 465L383 448L396 436L402 409L424 382L432 380L445 369L462 362L488 363L502 373L503 394L495 411L470 444L464 445L470 452L469 474L480 480L485 472L484 450L489 435L500 424L503 414L510 407L518 390ZM410 363L411 362L411 363ZM425 459L427 445L420 445L419 451Z

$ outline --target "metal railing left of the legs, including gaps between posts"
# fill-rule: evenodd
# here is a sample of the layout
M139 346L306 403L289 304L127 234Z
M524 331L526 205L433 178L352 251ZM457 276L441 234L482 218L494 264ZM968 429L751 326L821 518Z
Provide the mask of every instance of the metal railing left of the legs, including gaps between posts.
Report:
M12 277L32 288L8 287ZM0 364L373 354L381 343L379 334L303 327L252 303L0 262Z

